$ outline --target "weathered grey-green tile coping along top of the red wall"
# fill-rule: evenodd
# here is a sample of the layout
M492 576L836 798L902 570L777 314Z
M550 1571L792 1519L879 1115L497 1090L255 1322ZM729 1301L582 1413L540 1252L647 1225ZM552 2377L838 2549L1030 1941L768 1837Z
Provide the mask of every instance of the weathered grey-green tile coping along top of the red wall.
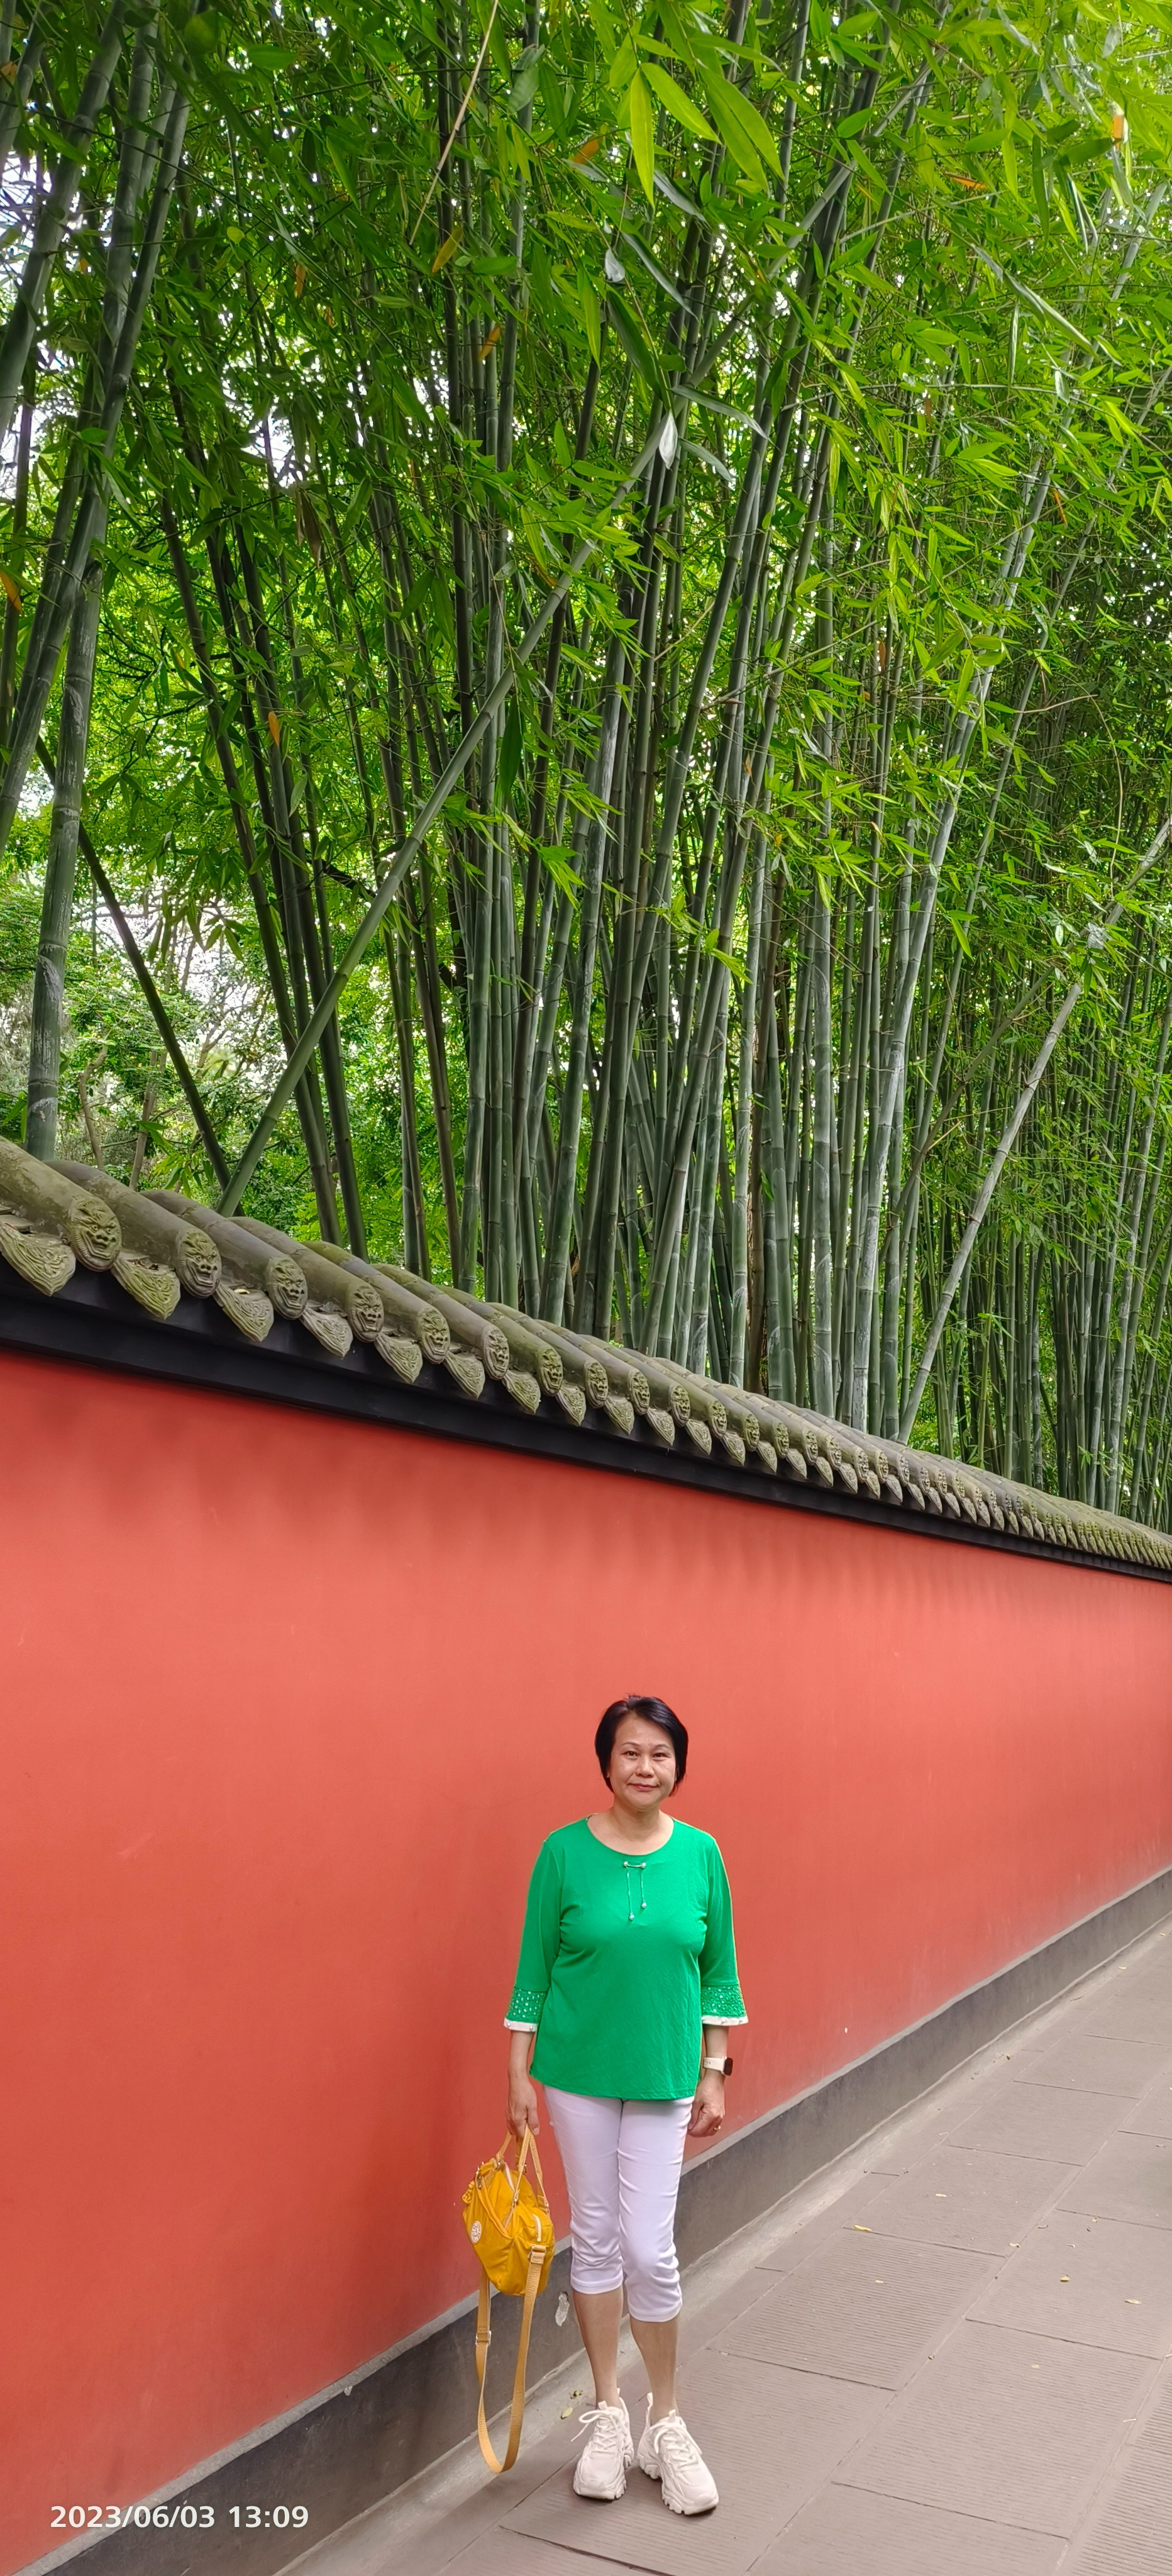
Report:
M255 1350L278 1319L283 1332L309 1337L325 1368L366 1345L420 1399L438 1383L469 1409L507 1399L518 1422L541 1417L605 1435L616 1463L623 1443L641 1443L688 1461L695 1484L724 1471L724 1489L734 1471L757 1489L791 1484L827 1502L850 1497L876 1520L935 1520L958 1535L1028 1540L1056 1556L1172 1577L1172 1538L1118 1512L847 1430L757 1388L719 1386L675 1360L492 1306L397 1265L361 1262L337 1244L301 1244L173 1190L129 1190L80 1162L36 1162L0 1139L0 1291L5 1265L23 1291L44 1298L59 1296L77 1265L106 1273L111 1293L155 1332L183 1319L188 1301L211 1301Z

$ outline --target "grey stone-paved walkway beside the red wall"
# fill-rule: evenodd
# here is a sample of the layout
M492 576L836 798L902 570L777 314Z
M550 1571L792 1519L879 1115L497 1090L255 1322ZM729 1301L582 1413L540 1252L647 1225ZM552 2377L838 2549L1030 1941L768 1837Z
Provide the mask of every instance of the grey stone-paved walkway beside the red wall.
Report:
M458 2452L296 2576L1167 2576L1169 2349L1172 1927L695 2269L716 2514L572 2494L577 2352L507 2478Z

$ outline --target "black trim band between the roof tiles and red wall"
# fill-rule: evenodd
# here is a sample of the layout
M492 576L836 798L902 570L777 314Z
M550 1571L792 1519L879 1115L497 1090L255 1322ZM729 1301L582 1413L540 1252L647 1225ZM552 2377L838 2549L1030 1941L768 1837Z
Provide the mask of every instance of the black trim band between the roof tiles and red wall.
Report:
M180 1298L170 1324L157 1324L131 1306L106 1273L77 1270L54 1298L41 1298L0 1262L0 1350L21 1350L46 1360L80 1360L137 1378L162 1378L170 1386L201 1386L224 1396L252 1396L263 1404L294 1404L307 1412L340 1414L368 1427L430 1432L440 1440L474 1440L479 1448L507 1448L525 1458L559 1458L567 1466L605 1468L610 1476L649 1476L654 1484L683 1484L698 1494L729 1494L734 1502L765 1502L788 1512L822 1512L829 1520L863 1520L894 1538L927 1538L961 1548L1002 1548L1010 1556L1043 1556L1059 1566L1090 1566L1097 1574L1131 1582L1169 1584L1159 1566L1059 1548L1012 1530L981 1530L966 1520L938 1520L930 1512L904 1512L865 1494L840 1494L824 1486L791 1484L760 1466L719 1466L683 1450L665 1450L641 1422L631 1437L592 1427L574 1430L549 1396L536 1414L523 1414L513 1399L487 1383L479 1399L461 1396L443 1368L422 1365L415 1386L399 1386L389 1368L355 1342L345 1360L330 1360L309 1334L281 1316L268 1340L252 1347L234 1324L203 1298Z

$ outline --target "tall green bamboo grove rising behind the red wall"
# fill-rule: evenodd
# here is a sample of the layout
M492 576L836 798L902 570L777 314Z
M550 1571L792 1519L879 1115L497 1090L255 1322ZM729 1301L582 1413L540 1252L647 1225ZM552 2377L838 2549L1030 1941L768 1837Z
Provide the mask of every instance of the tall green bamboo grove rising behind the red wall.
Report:
M1172 10L3 18L8 1131L1167 1522Z

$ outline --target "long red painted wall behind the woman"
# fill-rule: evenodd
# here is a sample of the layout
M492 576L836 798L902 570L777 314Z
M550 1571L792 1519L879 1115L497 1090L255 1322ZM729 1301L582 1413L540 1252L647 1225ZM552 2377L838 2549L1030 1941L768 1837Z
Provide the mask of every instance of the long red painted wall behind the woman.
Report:
M618 1690L693 1728L737 2120L1172 1862L1162 1584L36 1360L0 1440L5 2571L471 2290Z

